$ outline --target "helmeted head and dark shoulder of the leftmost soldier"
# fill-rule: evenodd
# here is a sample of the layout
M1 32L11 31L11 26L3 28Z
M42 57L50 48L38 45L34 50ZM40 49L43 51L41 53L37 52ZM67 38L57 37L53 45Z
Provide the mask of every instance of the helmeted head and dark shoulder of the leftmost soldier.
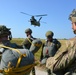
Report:
M8 45L13 48L20 47L16 43L10 43L10 40L12 40L10 28L7 28L5 25L0 25L0 41L6 46Z

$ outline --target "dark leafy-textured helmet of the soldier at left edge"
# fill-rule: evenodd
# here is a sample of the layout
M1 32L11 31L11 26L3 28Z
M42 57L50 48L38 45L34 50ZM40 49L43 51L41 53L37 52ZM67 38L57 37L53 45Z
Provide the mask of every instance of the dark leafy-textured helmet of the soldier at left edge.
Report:
M0 37L9 36L9 39L12 39L10 28L7 28L4 25L0 25Z

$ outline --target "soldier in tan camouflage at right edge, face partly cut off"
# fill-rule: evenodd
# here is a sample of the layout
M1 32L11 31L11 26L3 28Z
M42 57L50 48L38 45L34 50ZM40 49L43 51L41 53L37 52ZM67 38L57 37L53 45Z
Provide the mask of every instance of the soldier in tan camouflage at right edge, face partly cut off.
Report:
M72 29L76 34L76 10L69 16ZM76 75L76 37L69 39L65 50L60 51L54 57L47 59L46 67L51 70L50 75Z

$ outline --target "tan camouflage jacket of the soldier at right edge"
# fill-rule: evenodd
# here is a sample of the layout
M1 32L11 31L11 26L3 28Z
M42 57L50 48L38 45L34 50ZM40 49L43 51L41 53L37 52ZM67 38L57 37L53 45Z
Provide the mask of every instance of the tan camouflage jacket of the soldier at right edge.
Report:
M70 67L76 59L76 37L66 43L65 50L60 51L54 57L47 59L46 67L51 71L58 71Z

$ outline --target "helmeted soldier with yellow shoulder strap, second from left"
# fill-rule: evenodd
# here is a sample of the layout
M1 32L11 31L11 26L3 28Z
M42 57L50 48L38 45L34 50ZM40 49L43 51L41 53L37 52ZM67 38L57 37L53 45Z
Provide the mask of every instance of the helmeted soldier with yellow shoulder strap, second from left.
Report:
M31 50L32 51L32 53L34 54L35 52L32 50L33 49L33 44L32 44L32 41L33 40L35 40L35 41L38 41L38 40L36 40L36 38L34 38L33 36L32 36L32 30L30 29L30 28L27 28L26 30L25 30L25 33L26 33L26 36L27 36L27 38L23 41L23 43L22 43L22 45L23 45L23 48L27 48L27 49L29 49L29 50ZM35 42L34 41L34 42ZM33 43L34 43L33 42ZM31 46L32 45L32 46ZM30 48L31 47L31 48ZM38 48L37 48L38 49ZM39 50L39 49L38 49ZM35 50L36 51L36 50ZM37 51L36 51L37 52ZM33 67L33 69L32 69L32 75L35 75L35 67Z

